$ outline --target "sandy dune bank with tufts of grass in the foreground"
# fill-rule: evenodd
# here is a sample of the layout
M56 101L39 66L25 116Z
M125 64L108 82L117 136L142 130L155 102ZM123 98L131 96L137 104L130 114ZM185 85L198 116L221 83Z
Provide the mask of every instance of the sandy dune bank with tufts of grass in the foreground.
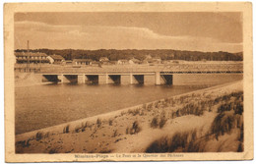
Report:
M18 135L16 152L239 151L242 90L242 82L225 83Z

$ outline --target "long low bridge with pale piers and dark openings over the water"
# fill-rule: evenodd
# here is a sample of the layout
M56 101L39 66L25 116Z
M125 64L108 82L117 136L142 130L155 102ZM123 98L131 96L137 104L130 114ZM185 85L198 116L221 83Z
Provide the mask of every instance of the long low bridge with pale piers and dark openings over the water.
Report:
M242 74L240 64L126 65L102 67L40 67L42 82L173 84L175 76L188 74Z

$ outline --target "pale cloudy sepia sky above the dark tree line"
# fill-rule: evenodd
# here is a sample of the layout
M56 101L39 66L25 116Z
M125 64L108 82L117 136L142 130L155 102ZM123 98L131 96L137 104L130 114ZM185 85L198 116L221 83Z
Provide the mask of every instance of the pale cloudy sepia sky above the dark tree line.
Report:
M16 13L15 49L242 51L241 13Z

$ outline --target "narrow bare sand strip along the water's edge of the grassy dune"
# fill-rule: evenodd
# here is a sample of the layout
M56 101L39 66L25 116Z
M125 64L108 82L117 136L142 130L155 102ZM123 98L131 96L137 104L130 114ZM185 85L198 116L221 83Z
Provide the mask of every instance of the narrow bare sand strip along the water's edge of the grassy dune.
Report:
M198 90L194 90L194 91L190 91L190 92L186 92L186 93L181 93L178 95L174 95L174 96L170 96L170 97L165 97L165 98L161 98L158 100L154 100L151 102L147 102L144 104L139 104L136 106L131 106L131 107L127 107L127 108L123 108L123 109L118 109L116 111L112 111L112 112L108 112L108 113L103 113L100 115L96 115L96 116L92 116L92 117L88 117L88 118L84 118L84 119L79 119L79 120L75 120L75 121L71 121L71 122L67 122L67 123L63 123L63 124L59 124L59 125L55 125L55 126L51 126L51 127L47 127L47 128L43 128L43 129L39 129L39 130L34 130L31 132L27 132L27 133L23 133L23 134L19 134L16 135L16 140L22 140L28 137L33 137L36 135L36 133L41 132L41 133L52 133L52 134L60 134L63 132L63 127L69 125L71 129L75 128L77 125L81 125L81 123L83 122L95 122L98 118L102 118L102 119L110 119L113 116L117 116L120 115L121 113L125 113L128 112L129 110L135 110L137 108L142 108L144 105L149 105L149 104L154 104L160 101L164 101L166 98L179 98L182 96L186 96L186 95L190 95L190 94L196 94L196 93L202 93L204 91L209 91L209 90L214 90L217 88L222 88L231 84L235 84L235 83L239 83L242 81L236 81L236 82L227 82L227 83L223 83L223 84L218 84L218 85L214 85L214 86L210 86L207 88L203 88L203 89L198 89Z

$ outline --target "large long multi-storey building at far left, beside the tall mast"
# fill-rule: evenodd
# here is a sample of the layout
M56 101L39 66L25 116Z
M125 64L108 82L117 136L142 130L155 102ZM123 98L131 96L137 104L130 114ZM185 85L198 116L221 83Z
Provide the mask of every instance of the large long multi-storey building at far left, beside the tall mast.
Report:
M49 63L47 55L40 52L15 52L16 63L18 64L38 64L38 63Z

